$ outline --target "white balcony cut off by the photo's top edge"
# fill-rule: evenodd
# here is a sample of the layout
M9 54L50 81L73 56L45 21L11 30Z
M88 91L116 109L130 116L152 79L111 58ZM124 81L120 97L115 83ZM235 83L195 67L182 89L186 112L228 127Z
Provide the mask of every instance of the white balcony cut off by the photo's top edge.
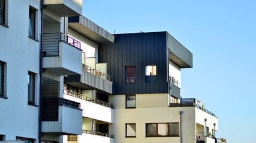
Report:
M61 17L82 15L83 0L44 0L46 10L50 10Z

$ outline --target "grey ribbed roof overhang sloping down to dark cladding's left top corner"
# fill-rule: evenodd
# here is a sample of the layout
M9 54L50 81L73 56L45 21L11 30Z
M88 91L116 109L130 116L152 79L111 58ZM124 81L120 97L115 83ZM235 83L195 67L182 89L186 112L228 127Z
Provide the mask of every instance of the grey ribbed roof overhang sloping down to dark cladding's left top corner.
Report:
M68 27L96 43L114 43L115 36L83 16L68 17Z

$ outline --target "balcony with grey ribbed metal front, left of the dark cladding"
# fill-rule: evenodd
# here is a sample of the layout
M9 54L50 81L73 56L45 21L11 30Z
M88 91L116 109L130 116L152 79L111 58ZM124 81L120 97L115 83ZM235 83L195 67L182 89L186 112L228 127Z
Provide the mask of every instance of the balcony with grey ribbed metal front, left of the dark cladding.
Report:
M64 83L80 89L96 89L97 93L112 94L112 77L82 64L82 74L64 77Z

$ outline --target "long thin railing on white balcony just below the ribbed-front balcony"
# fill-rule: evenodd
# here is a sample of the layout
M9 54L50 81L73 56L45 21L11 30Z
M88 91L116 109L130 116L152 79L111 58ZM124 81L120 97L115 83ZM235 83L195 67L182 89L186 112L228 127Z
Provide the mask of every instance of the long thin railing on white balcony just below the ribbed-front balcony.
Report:
M64 94L70 95L72 97L80 98L82 100L94 102L96 104L103 105L103 106L106 106L106 107L109 107L109 108L114 108L114 105L109 104L108 102L96 100L96 99L91 98L91 97L86 97L85 95L82 95L82 94L79 94L79 93L76 93L76 92L73 92L73 91L69 91L67 89L64 89Z

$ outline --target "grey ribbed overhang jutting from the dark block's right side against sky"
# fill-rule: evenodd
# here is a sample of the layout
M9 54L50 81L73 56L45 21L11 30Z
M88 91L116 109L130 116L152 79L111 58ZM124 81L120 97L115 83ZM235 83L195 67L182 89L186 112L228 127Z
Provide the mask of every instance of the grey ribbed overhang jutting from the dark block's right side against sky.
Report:
M193 67L193 54L169 33L167 33L167 37L170 60L181 68Z

